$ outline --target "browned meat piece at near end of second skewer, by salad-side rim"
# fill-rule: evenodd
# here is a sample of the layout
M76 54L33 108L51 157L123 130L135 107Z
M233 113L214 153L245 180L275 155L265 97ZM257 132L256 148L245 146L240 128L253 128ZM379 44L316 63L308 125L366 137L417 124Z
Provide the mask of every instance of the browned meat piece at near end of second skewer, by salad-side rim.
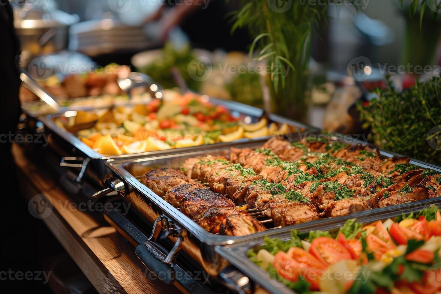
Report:
M268 201L269 208L265 214L270 216L277 226L291 226L299 223L318 220L317 208L307 203L294 202L283 195L275 195Z

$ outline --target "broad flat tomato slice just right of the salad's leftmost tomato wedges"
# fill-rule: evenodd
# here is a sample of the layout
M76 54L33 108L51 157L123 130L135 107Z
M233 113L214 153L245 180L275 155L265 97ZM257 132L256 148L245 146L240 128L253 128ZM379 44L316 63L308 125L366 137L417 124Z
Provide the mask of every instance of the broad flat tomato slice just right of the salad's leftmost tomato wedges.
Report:
M351 253L339 242L329 237L315 238L309 252L324 264L335 264L343 259L351 259Z

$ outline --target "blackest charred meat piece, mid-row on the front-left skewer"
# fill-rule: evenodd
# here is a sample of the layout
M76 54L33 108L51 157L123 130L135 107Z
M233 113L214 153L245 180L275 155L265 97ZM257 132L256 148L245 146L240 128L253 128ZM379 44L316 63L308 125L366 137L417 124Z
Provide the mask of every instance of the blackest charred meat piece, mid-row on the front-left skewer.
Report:
M181 211L192 219L200 219L210 207L232 207L233 201L208 189L193 189L184 196Z

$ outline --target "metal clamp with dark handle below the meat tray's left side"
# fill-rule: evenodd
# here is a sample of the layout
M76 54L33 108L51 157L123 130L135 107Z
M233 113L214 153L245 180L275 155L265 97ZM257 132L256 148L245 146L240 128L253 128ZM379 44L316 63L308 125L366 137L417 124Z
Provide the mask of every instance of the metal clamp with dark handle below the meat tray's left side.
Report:
M159 225L161 223L161 225ZM138 245L135 253L142 263L153 273L158 279L164 283L172 284L175 280L174 263L179 250L181 249L183 238L187 235L187 231L165 215L159 216L154 224L152 234L146 239L144 245ZM167 253L157 241L176 237L176 243Z

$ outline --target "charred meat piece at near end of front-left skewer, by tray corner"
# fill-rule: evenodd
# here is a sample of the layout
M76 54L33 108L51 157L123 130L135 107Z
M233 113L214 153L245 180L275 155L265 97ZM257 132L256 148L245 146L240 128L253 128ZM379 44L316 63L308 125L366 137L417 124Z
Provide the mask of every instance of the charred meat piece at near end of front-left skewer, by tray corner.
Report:
M265 230L262 223L243 212L227 216L220 226L221 234L229 236L245 236Z

